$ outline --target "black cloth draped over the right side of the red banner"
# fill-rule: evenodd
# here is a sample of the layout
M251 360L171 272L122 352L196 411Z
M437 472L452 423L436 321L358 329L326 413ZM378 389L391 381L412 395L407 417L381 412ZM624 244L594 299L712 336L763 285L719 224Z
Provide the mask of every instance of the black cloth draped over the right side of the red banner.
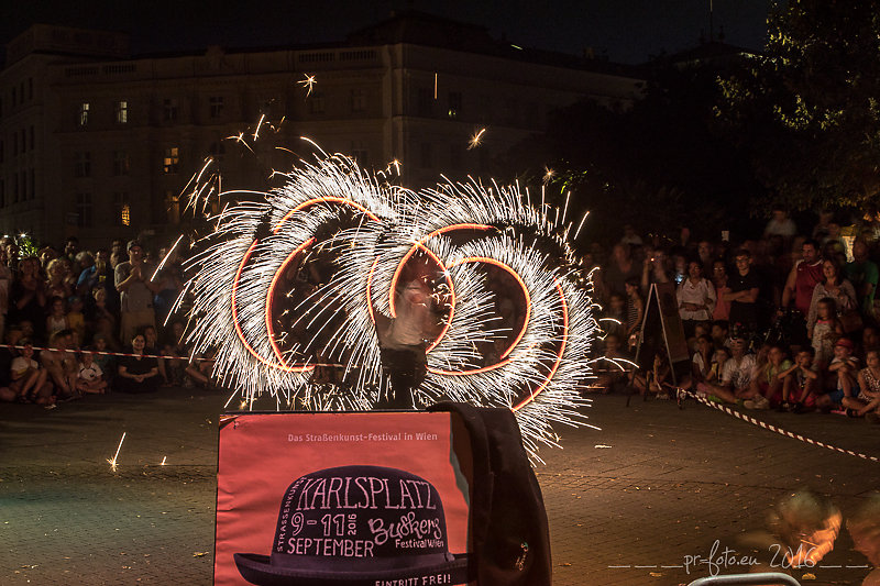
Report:
M469 575L480 586L550 586L550 528L538 478L509 409L441 402L471 436L473 555Z

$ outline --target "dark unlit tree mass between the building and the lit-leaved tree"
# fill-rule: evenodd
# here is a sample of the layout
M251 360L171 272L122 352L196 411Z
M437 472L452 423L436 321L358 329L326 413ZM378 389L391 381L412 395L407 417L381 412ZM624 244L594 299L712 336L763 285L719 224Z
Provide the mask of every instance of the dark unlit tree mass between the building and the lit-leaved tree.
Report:
M572 206L598 219L585 232L593 237L619 237L624 223L673 239L682 226L698 236L737 230L735 218L747 215L744 200L760 186L748 159L716 129L717 71L727 66L657 59L644 96L629 108L585 100L556 112L547 133L508 162L530 168L526 179L552 169L548 194L559 203L571 190Z

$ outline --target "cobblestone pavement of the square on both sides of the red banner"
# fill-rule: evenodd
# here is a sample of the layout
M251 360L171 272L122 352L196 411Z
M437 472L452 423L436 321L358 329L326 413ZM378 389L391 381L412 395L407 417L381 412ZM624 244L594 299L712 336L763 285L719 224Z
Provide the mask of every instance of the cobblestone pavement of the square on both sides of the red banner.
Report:
M226 397L189 389L110 395L52 411L0 405L0 584L210 584L217 418ZM689 402L596 397L602 431L561 429L537 469L550 518L554 584L688 584L710 573L717 540L769 562L743 533L809 486L846 517L880 487L880 464L759 429ZM837 416L763 420L880 455L880 425ZM122 444L118 466L108 460ZM162 465L163 460L165 465ZM730 560L732 555L725 556ZM846 531L809 584L869 572ZM839 566L839 567L828 567ZM853 567L862 566L862 567ZM690 573L689 573L690 572ZM804 572L794 573L803 579ZM807 576L809 578L810 576Z

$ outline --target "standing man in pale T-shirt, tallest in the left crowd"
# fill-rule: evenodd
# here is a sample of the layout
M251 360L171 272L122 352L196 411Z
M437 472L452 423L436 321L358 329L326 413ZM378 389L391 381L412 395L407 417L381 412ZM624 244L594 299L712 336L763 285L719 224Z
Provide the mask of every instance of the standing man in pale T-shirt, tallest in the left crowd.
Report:
M129 262L119 263L114 272L114 283L120 296L121 340L131 340L140 328L156 327L153 311L153 295L158 292L160 283L150 277L153 269L144 263L144 250L136 240L129 242Z

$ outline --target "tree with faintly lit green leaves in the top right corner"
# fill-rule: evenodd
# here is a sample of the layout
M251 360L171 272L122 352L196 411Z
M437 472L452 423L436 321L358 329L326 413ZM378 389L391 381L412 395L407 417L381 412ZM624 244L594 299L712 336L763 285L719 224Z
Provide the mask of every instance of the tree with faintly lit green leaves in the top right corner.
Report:
M760 203L875 208L880 192L880 10L871 0L791 0L765 53L721 79L717 114L750 153Z

